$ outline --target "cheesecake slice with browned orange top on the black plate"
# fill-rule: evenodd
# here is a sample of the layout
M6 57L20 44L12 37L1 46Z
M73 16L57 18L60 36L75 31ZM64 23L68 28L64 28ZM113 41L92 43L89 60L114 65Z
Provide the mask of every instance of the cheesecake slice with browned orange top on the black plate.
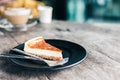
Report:
M62 50L45 42L43 37L33 38L25 42L24 51L26 54L43 59L59 61L62 60Z

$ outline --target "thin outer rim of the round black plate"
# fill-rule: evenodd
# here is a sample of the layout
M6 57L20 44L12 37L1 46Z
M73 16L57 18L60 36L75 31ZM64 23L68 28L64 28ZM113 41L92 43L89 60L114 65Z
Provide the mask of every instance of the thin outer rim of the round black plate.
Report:
M67 40L61 40L61 39L45 39L45 41L63 41L63 42L68 42L68 43L72 43L72 44L75 44L75 45L78 45L78 46L80 46L82 49L84 49L84 51L85 51L85 56L81 59L81 60L78 60L77 62L75 62L75 63L73 63L73 64L70 64L70 65L67 65L67 66L58 66L57 68L56 68L56 66L54 66L54 67L45 67L45 68L35 68L35 67L28 67L28 66L24 66L24 65L21 65L21 64L19 64L18 62L16 62L15 60L16 59L9 59L10 60L10 62L12 62L12 63L14 63L14 64L16 64L16 65L19 65L19 66L21 66L21 67L24 67L24 68L32 68L32 69L47 69L47 70L61 70L61 69L66 69L66 68L70 68L70 67L73 67L73 66L75 66L75 65L77 65L77 64L79 64L79 63L81 63L81 62L83 62L86 58L87 58L87 56L88 56L88 53L87 53L87 51L86 51L86 49L82 46L82 45L80 45L80 44L77 44L77 43L75 43L75 42L72 42L72 41L67 41ZM22 43L22 44L24 44L24 43ZM17 46L19 46L19 45L22 45L22 44L18 44ZM17 46L15 46L15 47L17 47ZM14 48L15 48L14 47ZM11 50L10 50L11 51ZM10 53L10 51L9 51L9 53Z

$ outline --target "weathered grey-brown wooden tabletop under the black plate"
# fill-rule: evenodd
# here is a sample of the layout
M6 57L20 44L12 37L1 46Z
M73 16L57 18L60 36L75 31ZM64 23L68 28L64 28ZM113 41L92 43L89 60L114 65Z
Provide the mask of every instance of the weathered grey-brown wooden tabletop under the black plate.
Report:
M22 69L0 59L0 80L120 80L120 26L102 23L53 21L37 24L27 32L0 35L0 54L34 37L63 39L84 46L88 57L80 64L60 70L41 72Z

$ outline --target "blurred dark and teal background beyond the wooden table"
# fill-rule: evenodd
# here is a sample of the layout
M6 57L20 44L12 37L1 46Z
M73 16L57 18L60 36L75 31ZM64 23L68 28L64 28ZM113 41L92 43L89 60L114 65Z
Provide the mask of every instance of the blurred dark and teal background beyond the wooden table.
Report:
M120 0L39 0L52 6L53 19L78 22L120 22Z

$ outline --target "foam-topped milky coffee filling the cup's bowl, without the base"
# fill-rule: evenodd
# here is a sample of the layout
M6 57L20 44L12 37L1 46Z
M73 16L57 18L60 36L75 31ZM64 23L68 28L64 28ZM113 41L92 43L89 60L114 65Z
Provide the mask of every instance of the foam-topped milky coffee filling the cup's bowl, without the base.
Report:
M11 8L5 11L5 16L13 25L26 24L31 10L27 8Z

